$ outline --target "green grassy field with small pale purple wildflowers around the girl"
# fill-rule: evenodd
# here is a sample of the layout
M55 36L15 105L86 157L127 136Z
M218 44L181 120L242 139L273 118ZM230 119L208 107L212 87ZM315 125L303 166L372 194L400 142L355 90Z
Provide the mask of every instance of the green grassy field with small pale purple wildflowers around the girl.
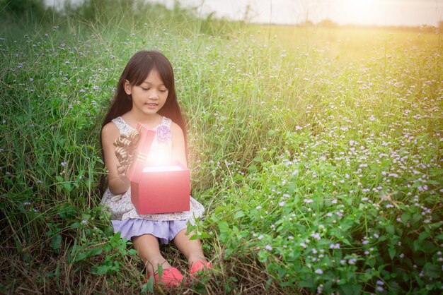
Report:
M441 33L119 3L1 10L1 293L167 293L98 206L101 121L142 49L173 64L206 208L189 229L214 272L180 292L442 292Z

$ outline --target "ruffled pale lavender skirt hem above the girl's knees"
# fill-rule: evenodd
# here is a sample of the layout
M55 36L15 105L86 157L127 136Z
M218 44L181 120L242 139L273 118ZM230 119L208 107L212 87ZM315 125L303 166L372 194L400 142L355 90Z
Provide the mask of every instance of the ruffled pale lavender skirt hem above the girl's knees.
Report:
M120 231L120 236L130 240L133 236L151 234L159 239L160 243L172 241L179 231L186 229L188 220L154 221L139 218L125 220L111 220L114 232Z

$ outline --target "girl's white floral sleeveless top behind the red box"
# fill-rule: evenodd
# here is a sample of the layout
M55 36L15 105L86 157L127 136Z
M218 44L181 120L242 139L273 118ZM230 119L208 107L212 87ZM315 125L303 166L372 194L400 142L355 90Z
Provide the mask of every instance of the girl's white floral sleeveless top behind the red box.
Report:
M134 128L129 126L121 116L113 119L113 123L117 126L121 134L129 135ZM172 140L171 136L171 119L163 116L161 122L154 130L156 135L149 150L148 159L171 159L172 156ZM113 220L125 220L130 218L140 218L154 221L166 220L184 220L196 217L202 217L205 208L197 200L190 197L190 210L184 212L162 213L162 214L146 214L139 215L131 202L131 188L121 195L113 195L106 189L101 200L102 205L107 205L113 213Z

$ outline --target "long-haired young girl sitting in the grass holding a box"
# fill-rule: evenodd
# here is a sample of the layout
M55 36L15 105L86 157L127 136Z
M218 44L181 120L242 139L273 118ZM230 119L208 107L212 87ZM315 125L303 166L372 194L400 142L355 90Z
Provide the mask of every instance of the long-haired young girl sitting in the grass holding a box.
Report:
M114 231L132 239L134 248L146 265L147 279L154 282L178 285L183 275L172 267L160 253L159 243L173 241L188 259L190 276L211 268L203 255L198 239L186 235L187 222L201 217L203 206L190 198L190 211L172 214L138 215L131 203L130 181L126 168L115 155L115 140L128 136L138 123L154 130L161 127L161 138L154 137L149 159L178 160L187 166L186 129L174 88L173 68L163 54L154 51L137 52L132 56L120 77L115 99L105 116L101 131L101 143L108 170L108 188L101 203L113 213ZM166 132L165 133L165 128ZM166 136L165 136L166 134ZM163 274L159 276L159 266Z

